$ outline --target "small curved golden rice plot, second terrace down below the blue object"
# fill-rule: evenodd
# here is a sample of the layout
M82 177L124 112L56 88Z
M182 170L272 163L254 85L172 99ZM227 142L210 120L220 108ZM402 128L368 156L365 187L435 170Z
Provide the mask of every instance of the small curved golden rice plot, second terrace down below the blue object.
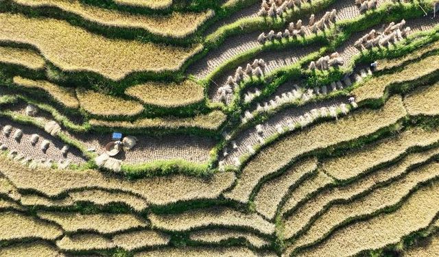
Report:
M108 192L104 190L86 190L69 193L73 201L90 201L93 204L106 205L111 203L123 203L140 212L145 210L148 204L145 199L123 192Z

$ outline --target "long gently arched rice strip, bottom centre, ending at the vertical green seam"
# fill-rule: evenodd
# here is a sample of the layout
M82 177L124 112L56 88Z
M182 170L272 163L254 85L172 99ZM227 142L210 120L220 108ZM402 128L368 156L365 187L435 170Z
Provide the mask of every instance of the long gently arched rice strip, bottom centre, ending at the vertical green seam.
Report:
M273 234L274 224L265 221L256 213L245 214L230 208L206 208L189 210L180 214L148 215L153 228L168 231L188 231L207 226L224 226L228 228L247 228L263 234Z

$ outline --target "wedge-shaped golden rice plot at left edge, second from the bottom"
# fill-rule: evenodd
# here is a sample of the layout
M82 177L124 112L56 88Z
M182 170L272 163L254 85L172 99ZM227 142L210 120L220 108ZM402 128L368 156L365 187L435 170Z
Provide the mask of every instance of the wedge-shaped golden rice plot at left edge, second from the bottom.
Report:
M0 241L24 238L54 240L62 235L56 225L19 212L0 212Z

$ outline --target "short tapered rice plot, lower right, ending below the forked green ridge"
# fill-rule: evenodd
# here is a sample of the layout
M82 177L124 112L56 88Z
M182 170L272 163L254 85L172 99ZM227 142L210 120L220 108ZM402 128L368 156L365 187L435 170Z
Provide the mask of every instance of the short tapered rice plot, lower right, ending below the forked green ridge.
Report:
M316 176L306 180L300 184L291 194L287 196L285 204L281 208L281 213L285 213L295 209L301 201L305 201L309 196L320 191L320 189L335 182L333 178L329 177L326 173L318 171Z

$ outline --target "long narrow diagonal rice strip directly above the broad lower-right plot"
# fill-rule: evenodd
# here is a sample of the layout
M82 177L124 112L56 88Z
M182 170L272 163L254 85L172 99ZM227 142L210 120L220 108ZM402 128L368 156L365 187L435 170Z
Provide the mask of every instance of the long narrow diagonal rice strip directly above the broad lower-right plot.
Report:
M373 215L379 210L390 208L403 201L419 184L436 178L438 175L438 164L430 164L411 171L408 175L396 180L389 186L377 188L364 197L348 201L344 204L335 204L318 217L305 234L300 234L298 240L294 242L294 247L309 245L318 241L346 221L366 215ZM285 230L295 226L302 227L303 225L305 224L287 221L285 222Z

